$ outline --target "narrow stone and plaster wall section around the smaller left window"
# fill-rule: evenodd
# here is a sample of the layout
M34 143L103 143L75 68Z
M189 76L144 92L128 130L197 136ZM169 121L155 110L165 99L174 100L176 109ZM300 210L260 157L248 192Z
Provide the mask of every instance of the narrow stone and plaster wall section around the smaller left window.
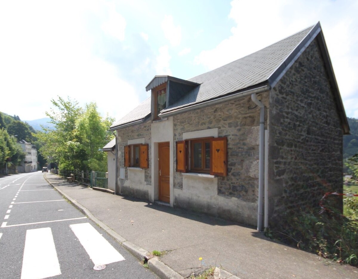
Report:
M150 139L151 122L147 121L142 124L129 126L117 130L118 135L118 168L124 167L124 147L128 145L129 140L144 138L145 143L149 144L149 168L142 170L139 168L125 168L125 179L119 178L118 183L121 185L121 194L132 197L149 199L149 188L151 186L151 139ZM130 173L129 173L130 172Z

